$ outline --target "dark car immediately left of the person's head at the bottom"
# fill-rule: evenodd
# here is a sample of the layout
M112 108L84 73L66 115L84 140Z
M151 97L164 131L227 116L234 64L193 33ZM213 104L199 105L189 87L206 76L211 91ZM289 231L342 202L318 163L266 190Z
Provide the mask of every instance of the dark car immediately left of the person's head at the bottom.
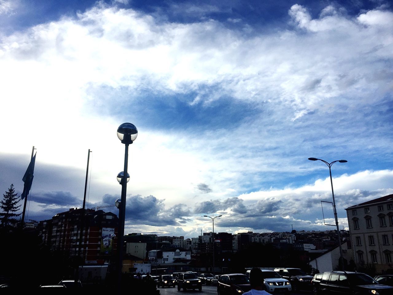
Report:
M242 294L250 289L250 280L242 273L222 275L217 284L218 295Z

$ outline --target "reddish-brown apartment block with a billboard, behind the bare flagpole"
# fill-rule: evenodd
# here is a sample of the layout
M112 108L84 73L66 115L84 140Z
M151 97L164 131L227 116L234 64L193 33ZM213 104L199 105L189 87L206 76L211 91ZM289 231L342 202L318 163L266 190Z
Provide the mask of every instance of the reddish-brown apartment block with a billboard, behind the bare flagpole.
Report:
M70 208L40 221L38 229L42 241L53 250L77 256L81 233L82 209ZM86 209L83 220L81 255L86 261L109 259L116 249L111 234L117 234L118 217L112 212Z

